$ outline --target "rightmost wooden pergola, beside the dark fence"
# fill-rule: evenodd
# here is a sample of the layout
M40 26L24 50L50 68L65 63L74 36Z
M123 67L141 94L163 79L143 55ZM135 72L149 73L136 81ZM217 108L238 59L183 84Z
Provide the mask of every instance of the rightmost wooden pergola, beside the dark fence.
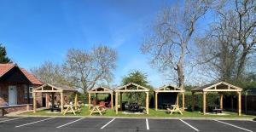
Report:
M238 115L241 116L241 88L231 85L230 83L225 83L225 82L219 82L219 83L210 83L207 85L204 85L202 87L199 88L195 88L192 89L192 111L194 111L194 107L195 107L195 98L194 98L194 94L195 92L202 92L202 96L203 96L203 102L202 102L202 107L203 107L203 114L206 114L207 112L207 93L208 92L218 92L219 94L219 107L220 109L223 109L223 95L224 92L236 92L237 96L238 96L238 106L237 106L237 112Z

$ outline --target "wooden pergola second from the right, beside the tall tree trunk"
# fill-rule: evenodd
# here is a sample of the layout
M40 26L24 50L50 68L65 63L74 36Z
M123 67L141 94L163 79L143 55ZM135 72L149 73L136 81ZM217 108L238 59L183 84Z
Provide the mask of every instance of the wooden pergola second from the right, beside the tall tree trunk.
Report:
M165 85L163 87L160 87L159 89L155 89L154 90L154 109L155 111L158 110L158 94L159 93L177 93L177 100L176 100L176 104L178 106L178 94L181 93L183 95L183 111L184 111L184 107L185 107L185 90L184 89L180 89L177 87L174 87L172 85Z

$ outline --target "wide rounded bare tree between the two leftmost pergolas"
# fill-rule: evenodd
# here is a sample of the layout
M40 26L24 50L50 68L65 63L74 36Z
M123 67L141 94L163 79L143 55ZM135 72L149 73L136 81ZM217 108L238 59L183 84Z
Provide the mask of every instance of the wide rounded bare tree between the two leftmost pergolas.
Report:
M117 52L107 46L95 47L91 52L69 49L64 69L73 86L86 93L97 83L112 80L116 60Z

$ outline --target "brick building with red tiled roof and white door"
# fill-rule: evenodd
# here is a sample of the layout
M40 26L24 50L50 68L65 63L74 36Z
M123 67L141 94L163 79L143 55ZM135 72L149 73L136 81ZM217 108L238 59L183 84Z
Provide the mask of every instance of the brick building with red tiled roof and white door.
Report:
M32 89L41 85L38 78L16 64L0 64L0 106L32 104ZM42 103L38 100L38 106Z

